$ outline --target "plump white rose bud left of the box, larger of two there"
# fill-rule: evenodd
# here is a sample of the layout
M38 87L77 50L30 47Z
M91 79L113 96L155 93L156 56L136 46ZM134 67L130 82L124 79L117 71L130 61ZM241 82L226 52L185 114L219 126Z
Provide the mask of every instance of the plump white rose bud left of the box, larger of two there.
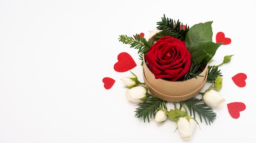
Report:
M146 100L146 94L147 94L146 87L138 86L138 87L132 87L131 89L128 89L126 91L126 98L134 103L143 103Z

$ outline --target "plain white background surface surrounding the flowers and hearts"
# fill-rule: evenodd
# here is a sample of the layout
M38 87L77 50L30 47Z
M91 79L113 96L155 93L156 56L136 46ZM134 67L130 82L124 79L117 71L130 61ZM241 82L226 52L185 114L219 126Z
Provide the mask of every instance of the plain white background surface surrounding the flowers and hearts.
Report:
M190 27L213 21L231 38L214 60L221 66L226 99L214 109L211 126L199 121L190 141L183 141L170 120L163 125L135 117L116 72L117 55L128 52L137 66L137 50L118 41L154 29L163 15ZM256 132L254 61L256 4L253 0L1 0L0 1L0 143L103 142L246 142ZM246 86L231 78L247 74ZM102 79L116 80L111 89ZM232 118L227 104L243 102L245 111ZM168 104L172 107L172 104ZM171 109L171 108L170 108Z

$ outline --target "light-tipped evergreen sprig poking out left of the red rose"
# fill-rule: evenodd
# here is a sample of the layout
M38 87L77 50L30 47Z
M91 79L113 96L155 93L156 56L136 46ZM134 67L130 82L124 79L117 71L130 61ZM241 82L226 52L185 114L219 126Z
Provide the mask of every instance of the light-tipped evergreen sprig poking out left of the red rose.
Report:
M130 48L137 49L141 60L142 54L146 55L149 48L153 45L150 40L147 41L142 35L139 34L133 35L133 37L129 37L127 35L120 35L118 39L124 44L129 44Z

